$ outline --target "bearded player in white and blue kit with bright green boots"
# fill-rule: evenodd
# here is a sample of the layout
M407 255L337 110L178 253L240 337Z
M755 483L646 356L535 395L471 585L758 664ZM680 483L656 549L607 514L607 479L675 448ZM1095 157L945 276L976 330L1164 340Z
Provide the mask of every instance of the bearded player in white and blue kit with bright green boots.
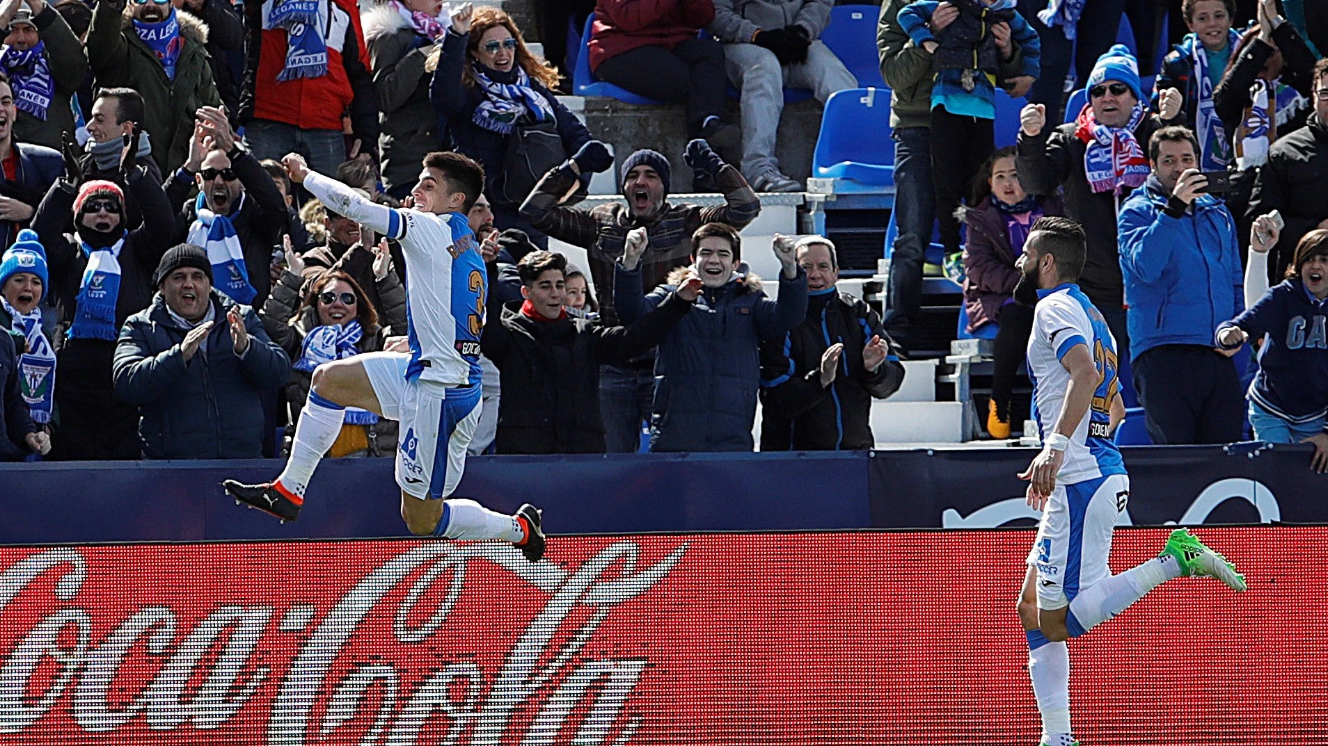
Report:
M1211 576L1235 591L1244 577L1189 531L1171 532L1166 547L1121 575L1108 556L1112 530L1125 511L1130 481L1110 439L1125 415L1116 377L1116 340L1078 285L1084 228L1065 218L1041 218L1024 244L1015 299L1035 305L1028 340L1033 410L1042 451L1028 470L1028 504L1042 511L1019 616L1028 634L1028 670L1045 746L1073 746L1070 662L1065 641L1121 613L1163 581Z

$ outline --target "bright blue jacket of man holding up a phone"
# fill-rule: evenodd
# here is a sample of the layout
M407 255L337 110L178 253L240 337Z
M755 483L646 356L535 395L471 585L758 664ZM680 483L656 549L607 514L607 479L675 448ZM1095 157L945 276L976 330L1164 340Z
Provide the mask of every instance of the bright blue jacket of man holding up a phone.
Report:
M1121 273L1130 360L1159 345L1212 346L1218 324L1244 311L1244 277L1231 212L1201 195L1177 216L1149 177L1121 207Z

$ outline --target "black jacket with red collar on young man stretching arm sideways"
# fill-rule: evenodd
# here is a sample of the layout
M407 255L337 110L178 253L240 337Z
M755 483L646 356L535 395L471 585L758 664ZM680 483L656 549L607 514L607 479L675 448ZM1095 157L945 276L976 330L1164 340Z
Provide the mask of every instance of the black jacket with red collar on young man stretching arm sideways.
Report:
M537 321L521 312L522 303L490 304L481 342L502 374L498 453L604 453L600 364L657 345L692 304L669 295L629 327L604 327L566 315Z

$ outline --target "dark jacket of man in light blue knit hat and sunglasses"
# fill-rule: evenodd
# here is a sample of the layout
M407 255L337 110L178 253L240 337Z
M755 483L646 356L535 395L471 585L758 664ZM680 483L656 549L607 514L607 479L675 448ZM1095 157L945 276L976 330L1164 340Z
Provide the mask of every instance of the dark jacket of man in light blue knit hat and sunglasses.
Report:
M1134 137L1143 153L1147 153L1154 131L1185 122L1183 114L1167 121L1146 115L1134 130ZM1061 194L1065 216L1082 223L1088 234L1088 260L1080 275L1080 288L1098 308L1122 308L1125 292L1116 246L1117 198L1110 191L1094 192L1089 186L1084 174L1084 153L1088 146L1074 137L1074 122L1054 129L1046 126L1035 137L1020 130L1015 157L1019 182L1029 194ZM1125 194L1121 202L1125 202Z

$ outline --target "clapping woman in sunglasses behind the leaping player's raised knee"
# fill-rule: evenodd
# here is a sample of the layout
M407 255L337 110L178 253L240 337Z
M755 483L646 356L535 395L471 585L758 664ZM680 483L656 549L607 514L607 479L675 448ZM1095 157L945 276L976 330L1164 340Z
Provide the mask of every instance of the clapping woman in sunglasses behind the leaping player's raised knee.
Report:
M282 275L282 281L272 289L267 303L259 312L263 328L272 341L282 345L291 356L291 380L286 384L286 401L290 405L291 423L288 431L295 434L295 425L304 401L309 397L313 369L323 362L341 360L364 352L380 352L392 329L405 329L405 288L392 283L388 289L386 277L392 275L390 255L381 252L374 261L374 276L380 292L396 293L398 303L388 308L402 309L400 317L378 319L378 313L365 297L364 289L345 272L323 272L300 295L304 268L293 251L287 251L291 265ZM397 423L382 419L372 411L347 408L341 434L328 455L344 457L384 457L393 455L397 447Z

